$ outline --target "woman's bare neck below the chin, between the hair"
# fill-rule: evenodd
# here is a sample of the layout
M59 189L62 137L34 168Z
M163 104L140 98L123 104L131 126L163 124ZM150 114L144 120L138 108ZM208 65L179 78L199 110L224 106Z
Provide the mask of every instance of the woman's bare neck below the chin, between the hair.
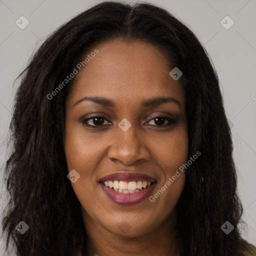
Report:
M82 213L87 233L86 256L179 255L175 210L160 226L136 237L116 235L93 222L84 210Z

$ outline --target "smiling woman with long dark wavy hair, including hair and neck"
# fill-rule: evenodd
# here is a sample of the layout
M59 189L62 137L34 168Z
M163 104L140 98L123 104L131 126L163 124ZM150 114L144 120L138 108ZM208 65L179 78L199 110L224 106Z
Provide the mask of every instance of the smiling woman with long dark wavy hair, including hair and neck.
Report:
M22 73L11 130L18 255L255 255L217 75L164 9L102 2L62 25Z

